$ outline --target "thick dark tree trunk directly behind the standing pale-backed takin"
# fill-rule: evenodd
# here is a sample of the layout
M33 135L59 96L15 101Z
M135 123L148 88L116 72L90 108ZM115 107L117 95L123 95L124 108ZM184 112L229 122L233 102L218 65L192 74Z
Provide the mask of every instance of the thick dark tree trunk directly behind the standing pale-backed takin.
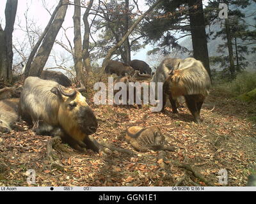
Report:
M193 56L204 64L205 69L211 77L202 0L189 0L188 5Z

